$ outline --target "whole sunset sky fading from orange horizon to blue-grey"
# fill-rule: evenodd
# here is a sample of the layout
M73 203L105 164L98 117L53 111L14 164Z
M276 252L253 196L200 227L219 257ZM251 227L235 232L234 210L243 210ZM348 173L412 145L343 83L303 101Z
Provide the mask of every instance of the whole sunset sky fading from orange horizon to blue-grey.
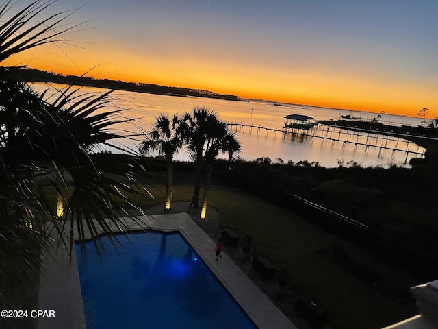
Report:
M72 8L85 23L64 52L8 64L438 117L437 0L59 0L47 11Z

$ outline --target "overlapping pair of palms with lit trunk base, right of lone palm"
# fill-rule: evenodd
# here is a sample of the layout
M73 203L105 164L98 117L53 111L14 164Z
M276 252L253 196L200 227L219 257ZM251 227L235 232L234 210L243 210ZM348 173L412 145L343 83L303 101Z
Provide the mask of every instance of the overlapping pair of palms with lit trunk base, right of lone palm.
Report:
M227 123L220 121L216 113L206 108L194 108L191 114L184 114L181 125L188 150L196 164L194 195L200 192L201 167L203 163L207 165L201 208L201 219L205 219L213 162L221 152L232 156L240 151L240 144L235 135L229 133Z

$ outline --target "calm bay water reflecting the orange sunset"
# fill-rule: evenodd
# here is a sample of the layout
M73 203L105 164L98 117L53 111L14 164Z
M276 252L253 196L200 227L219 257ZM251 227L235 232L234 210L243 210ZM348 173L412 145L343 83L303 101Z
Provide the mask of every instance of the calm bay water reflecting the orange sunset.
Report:
M60 88L60 86L57 86ZM33 88L37 91L47 89L45 84L34 84ZM98 88L82 88L78 93L105 93L106 90ZM244 123L246 125L255 125L260 127L277 128L283 127L284 117L287 114L305 114L317 120L340 119L340 114L352 114L363 119L374 119L379 114L372 112L350 112L350 110L339 110L332 108L318 108L314 106L274 106L273 103L264 101L224 101L220 99L210 99L203 97L177 97L167 95L153 95L143 93L131 93L125 91L115 91L114 99L117 99L116 105L129 109L125 117L138 118L136 121L124 125L118 125L118 132L123 134L141 134L149 131L151 124L159 114L182 114L190 112L194 107L205 107L218 113L218 117L229 123ZM404 125L420 125L422 119L414 117L401 117L391 114L380 114L379 120L383 122L398 123ZM327 128L324 127L324 130ZM354 143L332 142L323 138L296 138L292 139L290 134L265 130L250 130L246 127L244 130L239 127L232 127L231 131L235 132L237 139L242 145L240 157L245 160L255 160L261 157L268 157L272 162L276 158L281 158L284 162L292 161L294 163L301 160L309 162L319 162L323 167L338 167L338 162L348 163L357 162L363 167L382 166L389 167L391 164L404 165L409 167L406 162L415 155L409 152L424 153L422 147L418 147L407 141L391 141L384 136L357 136L352 134L349 140L352 142L365 141L376 147L365 147L354 145ZM257 133L258 131L258 133ZM335 136L336 134L347 133L346 130L339 132L330 128L327 131L316 132L315 136ZM325 134L325 135L324 135ZM372 139L374 138L374 139ZM128 147L137 151L137 145L142 140L141 136L132 138L123 138L117 141L120 147ZM391 151L383 147L396 147L403 151ZM116 149L107 149L118 151ZM408 153L406 151L409 151ZM224 157L225 158L225 157ZM175 156L175 160L188 161L188 154L181 152Z

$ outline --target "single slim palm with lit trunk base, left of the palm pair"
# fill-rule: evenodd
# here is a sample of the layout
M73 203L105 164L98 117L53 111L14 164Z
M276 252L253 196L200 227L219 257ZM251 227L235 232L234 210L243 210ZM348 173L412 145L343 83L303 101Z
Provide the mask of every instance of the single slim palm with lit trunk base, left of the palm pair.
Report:
M173 116L168 119L164 114L160 114L155 120L153 130L146 134L146 141L140 143L140 151L142 154L147 154L150 151L158 151L159 155L166 158L167 167L167 184L166 184L166 210L170 209L172 202L172 171L173 171L173 155L181 149L183 145L180 119Z

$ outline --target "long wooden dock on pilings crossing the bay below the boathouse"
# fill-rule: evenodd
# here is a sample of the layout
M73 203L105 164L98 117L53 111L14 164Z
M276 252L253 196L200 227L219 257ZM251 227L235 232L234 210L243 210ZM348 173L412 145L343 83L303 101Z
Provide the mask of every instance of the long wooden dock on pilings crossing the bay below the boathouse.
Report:
M320 138L323 143L324 141L329 141L332 146L335 143L342 143L344 148L346 145L353 145L354 150L357 150L358 146L365 147L365 153L368 152L370 147L376 147L379 149L378 156L381 155L381 151L390 150L392 152L392 157L396 151L403 152L406 154L405 163L409 154L414 154L415 156L424 157L424 151L420 151L420 145L413 143L403 136L389 136L384 134L379 134L379 132L373 130L346 130L343 127L336 127L332 125L322 125L318 124L309 130L301 128L272 128L272 127L261 127L260 125L246 124L246 123L228 123L231 131L248 133L248 134L263 134L268 137L272 132L272 136L276 138L277 132L281 132L282 138L287 138L290 136L292 140L300 139L304 141L306 138ZM438 139L437 139L438 141Z

